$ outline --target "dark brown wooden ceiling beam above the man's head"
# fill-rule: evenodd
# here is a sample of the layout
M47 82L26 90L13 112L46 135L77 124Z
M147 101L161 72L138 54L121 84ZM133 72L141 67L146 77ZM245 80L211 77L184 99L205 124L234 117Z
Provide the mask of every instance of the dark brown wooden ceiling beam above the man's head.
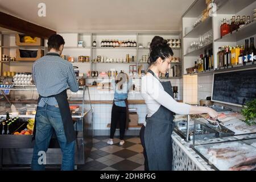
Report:
M43 39L48 39L52 34L56 34L56 31L2 12L0 12L0 27Z

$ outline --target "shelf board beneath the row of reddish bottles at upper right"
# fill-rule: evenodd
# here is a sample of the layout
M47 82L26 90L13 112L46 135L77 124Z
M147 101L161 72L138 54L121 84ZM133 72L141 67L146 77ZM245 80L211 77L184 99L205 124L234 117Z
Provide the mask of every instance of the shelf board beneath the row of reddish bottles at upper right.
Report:
M227 34L222 38L214 40L214 42L238 42L249 36L255 35L256 30L256 21L246 24L242 28L239 28L237 31L233 31L232 34Z

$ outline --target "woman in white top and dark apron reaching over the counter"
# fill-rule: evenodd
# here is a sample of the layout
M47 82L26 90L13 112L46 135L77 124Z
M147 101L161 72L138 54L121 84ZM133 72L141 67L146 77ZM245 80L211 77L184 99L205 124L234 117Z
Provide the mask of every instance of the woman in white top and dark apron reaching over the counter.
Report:
M171 82L160 82L159 73L170 68L174 53L167 40L155 36L150 46L150 68L142 78L142 97L147 105L146 127L140 137L144 148L145 170L172 170L172 139L174 113L203 114L217 119L218 113L208 107L196 107L176 102ZM148 163L148 166L147 166Z

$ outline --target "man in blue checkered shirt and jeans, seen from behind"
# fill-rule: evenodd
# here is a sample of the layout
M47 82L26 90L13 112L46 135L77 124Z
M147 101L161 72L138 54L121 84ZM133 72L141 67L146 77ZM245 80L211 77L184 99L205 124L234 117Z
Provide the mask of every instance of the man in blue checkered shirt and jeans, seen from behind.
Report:
M75 130L67 100L67 89L79 90L72 63L60 57L65 42L62 36L48 39L46 56L35 61L32 76L39 93L34 129L35 146L31 162L32 170L44 170L39 152L46 152L53 130L63 153L61 170L73 170L75 154ZM36 132L35 132L36 131ZM47 158L47 156L46 156Z

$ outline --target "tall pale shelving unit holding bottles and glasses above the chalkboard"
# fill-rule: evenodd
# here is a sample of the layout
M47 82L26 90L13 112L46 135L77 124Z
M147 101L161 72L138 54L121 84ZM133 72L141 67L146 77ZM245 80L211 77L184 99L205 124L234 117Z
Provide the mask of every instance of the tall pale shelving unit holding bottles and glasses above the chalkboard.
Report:
M197 25L189 32L185 32L187 28L192 27L193 23L196 22L200 14L204 9L206 9L204 0L196 0L191 7L183 14L183 56L184 64L183 71L184 75L186 69L193 67L195 61L199 58L200 54L204 54L204 49L213 49L214 55L214 69L217 68L217 52L218 47L222 46L236 46L244 44L244 39L248 39L251 36L255 36L256 22L251 22L250 24L245 25L242 28L239 28L238 31L233 31L232 34L228 34L220 38L220 20L222 18L232 18L233 15L250 15L251 20L253 19L253 9L256 6L256 2L253 0L227 0L214 1L217 5L216 15L209 17L204 20L204 22ZM204 46L195 51L189 51L189 47L192 42L197 41L197 38L200 35L205 34L206 32L213 31L213 42L209 43L207 46Z

